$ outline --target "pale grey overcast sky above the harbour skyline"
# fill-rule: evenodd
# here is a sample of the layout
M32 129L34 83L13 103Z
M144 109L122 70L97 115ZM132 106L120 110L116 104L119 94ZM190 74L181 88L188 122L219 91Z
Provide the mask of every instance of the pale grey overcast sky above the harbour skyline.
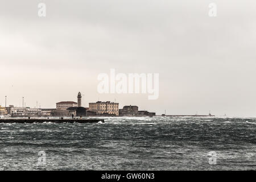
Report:
M80 91L83 106L256 117L255 10L255 0L0 0L0 104L55 107ZM159 99L98 94L110 68L159 73Z

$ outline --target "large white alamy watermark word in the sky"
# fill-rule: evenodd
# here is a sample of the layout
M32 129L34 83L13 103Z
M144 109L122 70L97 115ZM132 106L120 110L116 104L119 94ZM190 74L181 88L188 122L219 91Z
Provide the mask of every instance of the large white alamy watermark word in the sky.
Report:
M98 93L148 94L148 100L159 97L159 73L117 73L110 69L110 75L100 73Z

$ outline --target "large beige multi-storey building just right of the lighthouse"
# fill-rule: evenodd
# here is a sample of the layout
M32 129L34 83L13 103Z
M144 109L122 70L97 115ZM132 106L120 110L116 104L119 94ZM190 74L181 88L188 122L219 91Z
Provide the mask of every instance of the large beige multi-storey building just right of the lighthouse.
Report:
M119 115L119 103L114 102L101 102L98 101L96 103L89 103L89 111L96 112L96 114L114 114L116 116Z

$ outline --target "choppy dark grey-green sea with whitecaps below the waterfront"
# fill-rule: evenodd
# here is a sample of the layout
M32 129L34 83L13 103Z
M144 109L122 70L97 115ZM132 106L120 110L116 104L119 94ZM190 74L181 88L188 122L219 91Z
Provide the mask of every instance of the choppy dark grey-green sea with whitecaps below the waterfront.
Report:
M0 124L1 170L255 170L256 118ZM45 164L38 152L46 152ZM210 151L216 164L210 165Z

